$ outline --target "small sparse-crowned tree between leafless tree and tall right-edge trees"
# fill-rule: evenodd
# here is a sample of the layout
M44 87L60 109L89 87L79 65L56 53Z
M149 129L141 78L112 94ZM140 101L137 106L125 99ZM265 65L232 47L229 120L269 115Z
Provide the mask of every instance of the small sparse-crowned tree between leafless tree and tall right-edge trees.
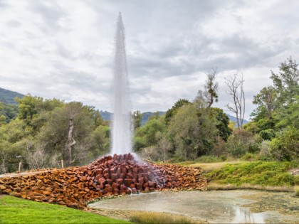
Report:
M264 107L266 109L266 116L268 119L271 119L273 112L273 105L276 100L276 90L269 86L263 87L263 89L253 97L253 104L258 105L260 107Z

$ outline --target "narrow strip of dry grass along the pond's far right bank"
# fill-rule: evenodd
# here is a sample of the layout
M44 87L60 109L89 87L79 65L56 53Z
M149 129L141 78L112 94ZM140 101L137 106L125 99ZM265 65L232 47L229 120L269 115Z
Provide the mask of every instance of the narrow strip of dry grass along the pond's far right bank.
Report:
M280 191L280 192L293 192L293 188L289 186L261 186L261 185L253 185L248 183L243 183L240 186L236 184L219 184L219 183L209 183L206 187L208 190L263 190L263 191ZM298 194L299 194L299 187L298 187Z

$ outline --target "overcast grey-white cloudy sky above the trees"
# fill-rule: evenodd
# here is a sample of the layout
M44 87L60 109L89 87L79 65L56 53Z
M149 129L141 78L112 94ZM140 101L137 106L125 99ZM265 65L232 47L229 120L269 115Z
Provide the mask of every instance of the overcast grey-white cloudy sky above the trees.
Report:
M299 60L299 1L0 0L0 87L111 111L116 18L126 30L133 108L194 100L206 72L244 76L246 118L271 70Z

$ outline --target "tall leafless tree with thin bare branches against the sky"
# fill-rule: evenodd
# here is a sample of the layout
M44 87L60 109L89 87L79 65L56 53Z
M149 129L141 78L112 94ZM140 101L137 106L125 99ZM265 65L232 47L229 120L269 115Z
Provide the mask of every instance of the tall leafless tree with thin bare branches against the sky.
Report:
M243 74L238 77L238 72L226 80L226 85L229 87L227 92L232 97L232 105L228 103L226 107L229 111L236 114L238 129L243 129L243 120L245 114L245 94L243 88Z

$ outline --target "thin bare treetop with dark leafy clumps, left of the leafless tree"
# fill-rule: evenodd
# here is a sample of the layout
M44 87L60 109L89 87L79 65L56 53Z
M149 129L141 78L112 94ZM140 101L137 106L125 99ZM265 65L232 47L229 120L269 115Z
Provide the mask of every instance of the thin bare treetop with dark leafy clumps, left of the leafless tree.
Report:
M218 102L218 83L216 80L217 68L212 68L206 73L207 80L204 85L204 97L208 103L208 108L214 103L214 100Z

